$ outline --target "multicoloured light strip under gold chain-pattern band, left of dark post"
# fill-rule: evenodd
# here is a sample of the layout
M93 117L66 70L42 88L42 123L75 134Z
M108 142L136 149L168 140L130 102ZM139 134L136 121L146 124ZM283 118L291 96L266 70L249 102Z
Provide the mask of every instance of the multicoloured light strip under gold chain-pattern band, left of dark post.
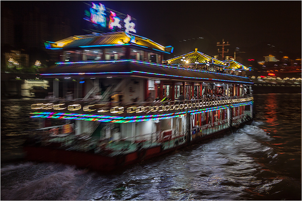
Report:
M185 116L185 114L166 116L152 119L136 119L136 120L112 120L112 119L98 119L98 118L84 118L84 117L68 117L68 116L55 116L55 115L34 115L32 118L52 118L52 119L74 119L74 120L84 120L84 121L97 121L97 122L111 122L111 123L130 123L130 122L143 122L151 120L161 120L161 119L171 119L175 117Z

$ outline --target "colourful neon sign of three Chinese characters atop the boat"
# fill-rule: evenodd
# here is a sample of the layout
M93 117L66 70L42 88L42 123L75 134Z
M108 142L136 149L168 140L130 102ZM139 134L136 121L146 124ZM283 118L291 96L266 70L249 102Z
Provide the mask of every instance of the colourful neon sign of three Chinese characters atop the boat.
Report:
M107 12L108 14L106 14L105 12ZM132 20L130 15L127 15L127 17L121 17L124 16L124 14L117 16L117 14L113 11L106 11L105 6L101 3L99 3L99 5L92 3L92 7L89 8L89 11L85 10L85 15L87 16L84 18L85 20L90 21L96 25L99 24L101 27L106 28L107 25L110 30L114 30L116 28L123 29L124 27L125 32L131 31L136 33L136 30L134 29L135 23L130 22ZM106 15L109 16L109 19L108 17L106 18Z

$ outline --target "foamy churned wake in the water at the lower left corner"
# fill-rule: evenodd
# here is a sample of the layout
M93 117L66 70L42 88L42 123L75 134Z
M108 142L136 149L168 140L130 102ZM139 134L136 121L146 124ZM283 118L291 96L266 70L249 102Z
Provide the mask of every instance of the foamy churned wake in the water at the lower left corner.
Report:
M68 165L24 163L1 168L1 180L2 200L76 200L91 173Z

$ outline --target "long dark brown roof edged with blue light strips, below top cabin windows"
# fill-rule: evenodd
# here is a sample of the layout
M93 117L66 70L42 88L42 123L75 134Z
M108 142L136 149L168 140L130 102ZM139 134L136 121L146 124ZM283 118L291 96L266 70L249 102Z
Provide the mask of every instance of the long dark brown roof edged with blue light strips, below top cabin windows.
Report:
M194 70L172 65L164 65L139 60L106 60L59 62L41 72L43 77L142 77L153 79L178 80L181 82L222 82L251 84L242 76Z

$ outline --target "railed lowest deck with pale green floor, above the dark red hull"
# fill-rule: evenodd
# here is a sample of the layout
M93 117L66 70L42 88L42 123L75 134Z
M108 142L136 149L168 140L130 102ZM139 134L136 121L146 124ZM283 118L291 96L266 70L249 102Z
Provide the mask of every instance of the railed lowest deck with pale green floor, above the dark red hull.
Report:
M168 135L164 135L163 131L157 131L116 140L113 138L100 138L98 136L87 136L85 134L75 135L72 133L66 135L49 135L49 131L45 131L42 132L42 134L40 132L35 139L27 141L26 145L88 152L101 156L114 157L127 155L140 150L147 150L153 147L161 147L161 150L169 150L188 142L199 140L208 135L237 127L250 119L252 119L251 112L244 111L242 115L235 116L231 119L224 119L203 126L192 126L189 131L166 132ZM53 127L50 128L53 129Z

